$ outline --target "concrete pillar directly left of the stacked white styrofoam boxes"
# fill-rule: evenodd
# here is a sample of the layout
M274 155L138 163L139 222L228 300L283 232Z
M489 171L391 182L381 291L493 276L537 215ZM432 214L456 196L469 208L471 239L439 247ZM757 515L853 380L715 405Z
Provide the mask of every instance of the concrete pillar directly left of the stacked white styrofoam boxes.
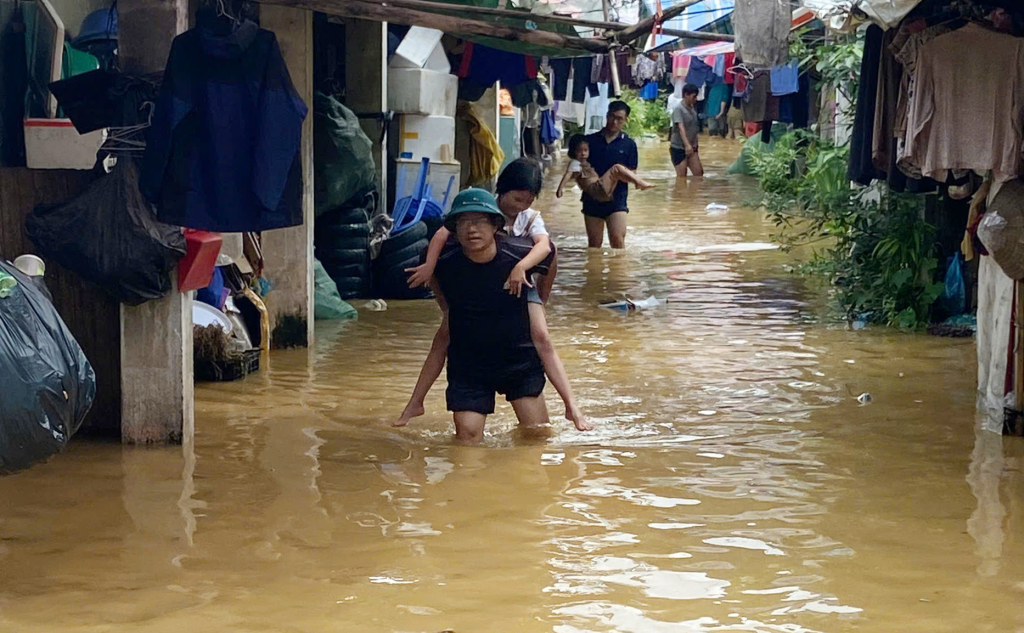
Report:
M355 114L387 112L387 23L345 20L345 101ZM382 123L361 119L360 124L374 141L377 184L387 192L387 138L381 142Z

